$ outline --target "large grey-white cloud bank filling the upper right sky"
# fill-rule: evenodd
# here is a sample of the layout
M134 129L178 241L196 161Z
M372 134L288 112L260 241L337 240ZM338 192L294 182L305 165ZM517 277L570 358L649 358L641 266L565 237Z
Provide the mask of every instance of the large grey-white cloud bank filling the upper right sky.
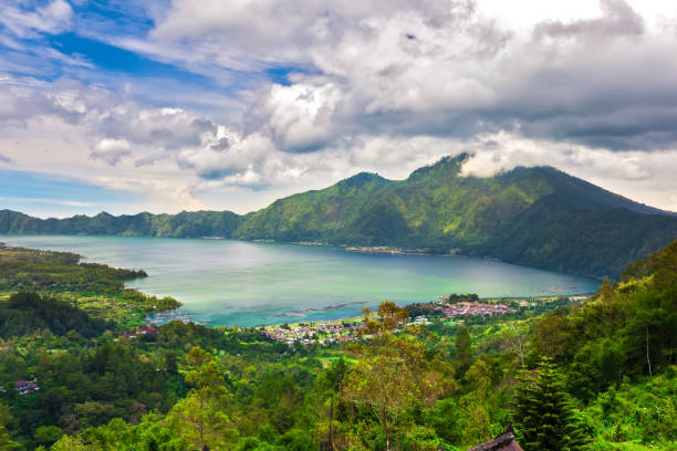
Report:
M677 34L648 30L623 0L597 17L518 35L470 0L173 2L147 51L181 64L300 70L254 92L244 133L284 151L346 136L465 137L519 126L534 139L612 149L677 143Z

